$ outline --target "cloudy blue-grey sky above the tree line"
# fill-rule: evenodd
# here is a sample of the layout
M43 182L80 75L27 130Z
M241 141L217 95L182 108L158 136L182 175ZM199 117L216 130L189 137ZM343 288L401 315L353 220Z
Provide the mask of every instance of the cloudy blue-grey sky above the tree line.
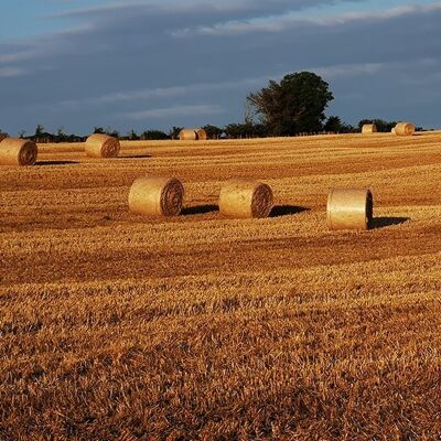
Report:
M441 1L1 0L0 130L87 135L244 120L310 71L326 115L441 128Z

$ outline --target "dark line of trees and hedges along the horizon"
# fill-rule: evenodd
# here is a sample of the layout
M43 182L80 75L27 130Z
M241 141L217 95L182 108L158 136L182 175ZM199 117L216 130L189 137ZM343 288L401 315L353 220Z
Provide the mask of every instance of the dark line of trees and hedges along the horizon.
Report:
M224 127L207 125L208 139L237 139L265 137L292 137L316 133L355 133L365 123L375 123L378 131L390 132L396 121L383 119L362 119L357 126L345 123L338 116L326 117L324 111L334 99L329 84L312 72L299 72L286 75L280 82L269 80L267 87L247 96L243 122L233 122ZM417 128L421 129L421 128ZM111 128L95 127L95 133L107 133L121 140L166 140L178 139L182 127L172 127L169 131L149 129L140 133L130 130L120 133ZM1 135L0 130L0 135ZM35 132L21 138L36 142L80 142L87 137L67 135L63 128L56 133L47 132L37 125Z

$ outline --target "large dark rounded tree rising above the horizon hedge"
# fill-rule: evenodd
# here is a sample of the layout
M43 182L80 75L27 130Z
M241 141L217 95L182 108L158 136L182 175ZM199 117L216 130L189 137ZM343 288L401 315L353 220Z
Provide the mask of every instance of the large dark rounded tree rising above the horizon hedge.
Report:
M311 72L286 75L280 83L248 95L268 133L291 136L323 129L324 109L334 96L329 84Z

